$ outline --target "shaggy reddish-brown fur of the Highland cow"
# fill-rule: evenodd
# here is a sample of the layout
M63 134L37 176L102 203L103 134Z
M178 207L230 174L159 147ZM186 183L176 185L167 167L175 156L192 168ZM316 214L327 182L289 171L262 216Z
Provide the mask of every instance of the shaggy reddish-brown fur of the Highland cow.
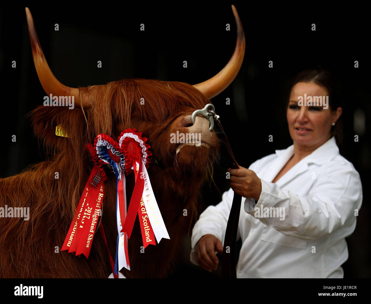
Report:
M112 272L109 255L98 233L87 260L62 247L75 214L92 165L85 144L93 143L99 133L116 139L126 128L137 128L148 138L153 157L165 171L152 162L148 169L162 217L170 235L156 246L140 253L142 238L138 217L129 239L131 271L125 277L166 277L174 265L196 211L199 189L210 176L211 163L219 144L215 133L211 148L186 146L176 155L170 133L180 116L191 114L210 103L201 92L187 83L129 79L101 86L81 88L89 94L92 108L81 110L39 106L30 113L34 132L45 145L48 160L26 171L0 180L0 206L30 207L30 219L0 219L0 277L2 278L107 278ZM144 98L144 105L140 104ZM55 135L56 125L67 129L69 138ZM182 131L183 130L183 131ZM197 162L196 162L197 160ZM59 172L59 179L55 179ZM108 171L107 171L108 172ZM108 173L102 209L106 237L111 253L116 247L116 179ZM128 202L134 175L127 177ZM187 209L188 216L183 216Z

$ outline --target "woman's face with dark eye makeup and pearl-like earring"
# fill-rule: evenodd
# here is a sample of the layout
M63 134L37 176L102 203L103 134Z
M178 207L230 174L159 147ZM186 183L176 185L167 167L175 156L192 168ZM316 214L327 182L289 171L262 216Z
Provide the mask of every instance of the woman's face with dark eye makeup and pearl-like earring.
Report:
M324 109L324 106L307 106L306 103L299 106L299 96L306 102L304 94L315 100L313 96L328 96L328 91L313 82L298 82L290 94L286 116L294 146L314 151L330 138L331 125L341 115L341 108L331 112L328 103L327 109Z

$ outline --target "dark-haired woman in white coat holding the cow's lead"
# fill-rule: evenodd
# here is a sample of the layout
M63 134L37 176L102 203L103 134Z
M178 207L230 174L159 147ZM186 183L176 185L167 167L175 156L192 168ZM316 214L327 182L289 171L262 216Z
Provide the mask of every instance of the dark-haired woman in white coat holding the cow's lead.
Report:
M229 169L231 188L193 228L191 261L207 271L217 268L215 252L223 254L235 191L242 195L237 278L344 275L345 237L355 229L362 186L335 141L341 139L341 96L329 73L317 70L299 73L289 92L286 117L293 145L249 169ZM322 96L322 103L305 103L305 97L319 101L314 96Z

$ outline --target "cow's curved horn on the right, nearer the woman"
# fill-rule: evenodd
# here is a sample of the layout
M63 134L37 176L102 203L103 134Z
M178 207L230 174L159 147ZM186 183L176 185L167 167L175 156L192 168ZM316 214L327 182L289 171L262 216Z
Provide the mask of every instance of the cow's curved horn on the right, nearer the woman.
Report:
M232 5L232 10L237 24L237 41L231 59L217 75L209 80L193 85L209 99L223 92L232 83L240 70L245 54L245 34L243 33L242 23L234 5Z

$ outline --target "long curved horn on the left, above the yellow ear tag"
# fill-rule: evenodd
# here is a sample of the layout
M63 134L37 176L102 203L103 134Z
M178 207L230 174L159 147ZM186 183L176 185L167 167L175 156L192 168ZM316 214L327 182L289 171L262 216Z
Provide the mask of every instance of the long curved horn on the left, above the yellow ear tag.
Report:
M28 24L28 32L30 34L30 42L32 49L33 62L37 76L39 76L40 83L45 90L46 94L54 96L75 96L75 105L84 108L90 108L91 104L85 95L82 95L80 100L80 90L73 87L63 85L55 78L49 65L46 62L43 50L41 49L39 38L37 37L35 24L33 23L32 15L28 7L26 7L26 16Z

